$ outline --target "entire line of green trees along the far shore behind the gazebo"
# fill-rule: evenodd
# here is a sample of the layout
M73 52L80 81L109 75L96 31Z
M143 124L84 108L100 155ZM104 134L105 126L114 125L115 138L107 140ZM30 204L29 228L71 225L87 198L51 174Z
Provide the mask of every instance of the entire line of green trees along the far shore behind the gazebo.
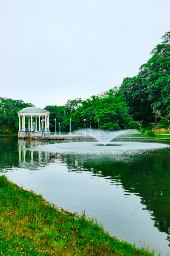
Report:
M137 76L127 77L121 86L114 87L82 101L68 100L63 106L46 106L50 112L51 131L72 131L84 127L104 130L138 128L147 123L160 122L170 132L170 32L162 37L163 42L152 50L152 57L140 67ZM0 127L13 124L18 130L17 112L33 106L21 100L0 98ZM99 121L98 121L99 120ZM168 128L169 127L169 128Z

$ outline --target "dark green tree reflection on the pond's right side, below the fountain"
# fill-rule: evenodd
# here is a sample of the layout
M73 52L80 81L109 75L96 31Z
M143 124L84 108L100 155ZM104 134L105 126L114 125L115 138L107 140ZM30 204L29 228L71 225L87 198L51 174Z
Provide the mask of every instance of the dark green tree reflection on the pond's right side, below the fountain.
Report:
M152 155L101 156L62 155L60 160L74 171L87 170L111 182L121 183L126 192L141 197L143 210L148 210L154 226L170 235L170 161L167 151ZM162 194L161 194L162 193ZM170 241L170 236L167 236Z

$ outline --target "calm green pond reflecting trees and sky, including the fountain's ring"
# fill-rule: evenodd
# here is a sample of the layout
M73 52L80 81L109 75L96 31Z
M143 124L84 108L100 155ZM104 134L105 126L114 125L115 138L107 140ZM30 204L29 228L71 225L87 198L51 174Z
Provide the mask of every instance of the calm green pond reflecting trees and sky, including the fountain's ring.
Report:
M97 218L136 247L170 252L170 142L0 137L0 170L48 201Z

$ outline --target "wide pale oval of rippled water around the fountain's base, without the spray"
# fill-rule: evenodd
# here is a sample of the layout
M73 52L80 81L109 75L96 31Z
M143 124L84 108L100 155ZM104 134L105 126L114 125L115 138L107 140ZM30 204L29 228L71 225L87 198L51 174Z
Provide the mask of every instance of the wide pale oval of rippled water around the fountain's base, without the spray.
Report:
M150 154L150 150L169 147L161 143L145 142L109 142L109 145L101 147L101 142L69 142L58 144L37 145L32 148L34 151L47 151L51 153L69 154ZM149 150L149 152L148 152Z

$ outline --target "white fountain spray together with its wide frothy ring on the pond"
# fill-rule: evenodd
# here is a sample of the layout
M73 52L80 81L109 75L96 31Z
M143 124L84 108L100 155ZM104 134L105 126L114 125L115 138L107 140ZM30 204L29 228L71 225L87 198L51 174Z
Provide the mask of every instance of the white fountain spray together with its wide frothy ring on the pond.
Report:
M80 130L79 130L80 131ZM82 131L80 131L82 132ZM86 134L93 137L97 142L93 141L55 141L54 144L44 144L33 148L33 150L48 151L61 154L146 154L148 150L156 148L168 147L162 143L139 142L139 141L119 141L112 142L112 140L121 134L133 133L134 130L121 131L98 131L86 130ZM102 143L102 144L101 144ZM109 144L108 144L109 143ZM105 147L99 147L105 146Z

